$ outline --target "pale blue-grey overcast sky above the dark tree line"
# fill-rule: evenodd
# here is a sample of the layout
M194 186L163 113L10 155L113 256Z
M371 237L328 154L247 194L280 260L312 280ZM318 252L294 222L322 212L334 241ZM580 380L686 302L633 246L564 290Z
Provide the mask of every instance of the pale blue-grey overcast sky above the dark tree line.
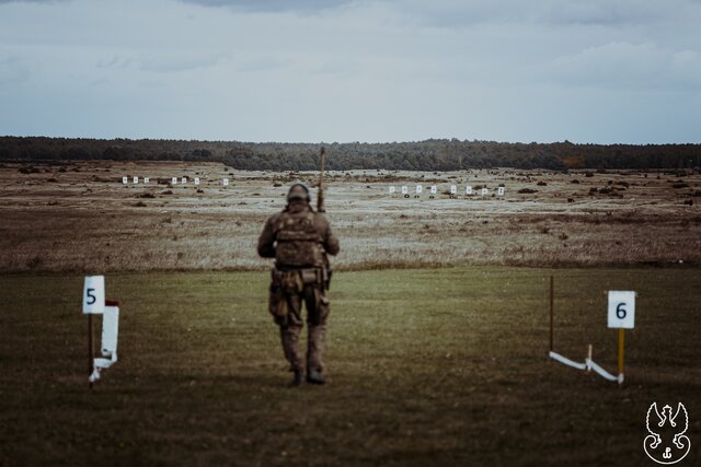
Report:
M0 135L701 142L701 0L0 0Z

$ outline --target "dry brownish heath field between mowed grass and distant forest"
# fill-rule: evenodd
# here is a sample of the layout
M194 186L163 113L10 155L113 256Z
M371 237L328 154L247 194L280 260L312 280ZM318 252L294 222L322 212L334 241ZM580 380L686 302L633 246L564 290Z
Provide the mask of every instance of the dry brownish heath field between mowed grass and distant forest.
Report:
M34 173L20 172L30 167ZM171 185L174 176L179 183ZM257 235L295 180L313 186L318 174L214 163L3 163L0 270L265 268L255 254ZM468 185L489 195L464 195ZM361 269L699 265L700 196L701 175L691 173L481 170L331 172L325 198L342 242L336 267Z

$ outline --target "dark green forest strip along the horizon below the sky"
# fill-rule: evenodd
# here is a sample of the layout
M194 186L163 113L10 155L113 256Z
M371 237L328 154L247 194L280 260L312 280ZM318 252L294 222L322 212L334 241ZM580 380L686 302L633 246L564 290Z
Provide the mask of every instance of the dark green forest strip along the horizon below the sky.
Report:
M691 168L701 144L507 143L429 139L387 143L285 143L157 139L0 137L0 160L196 161L237 170L312 171L326 148L326 168L459 171L469 168Z

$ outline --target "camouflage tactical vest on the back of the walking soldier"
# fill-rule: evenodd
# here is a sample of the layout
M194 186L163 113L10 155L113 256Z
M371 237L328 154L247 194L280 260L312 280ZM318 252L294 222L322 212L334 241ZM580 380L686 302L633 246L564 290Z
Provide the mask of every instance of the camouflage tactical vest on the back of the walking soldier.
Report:
M275 264L283 268L320 268L323 266L321 234L312 211L284 211L275 227Z

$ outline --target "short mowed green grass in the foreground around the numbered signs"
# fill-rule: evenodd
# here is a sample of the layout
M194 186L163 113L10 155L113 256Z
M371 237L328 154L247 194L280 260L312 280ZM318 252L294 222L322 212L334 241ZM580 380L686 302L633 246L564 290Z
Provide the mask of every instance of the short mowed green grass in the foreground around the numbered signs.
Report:
M547 358L551 273L556 350L611 372L602 292L639 291L623 389ZM119 361L90 392L82 277L0 278L0 465L647 465L653 401L686 405L701 459L698 269L338 273L330 384L297 389L267 283L108 276Z

